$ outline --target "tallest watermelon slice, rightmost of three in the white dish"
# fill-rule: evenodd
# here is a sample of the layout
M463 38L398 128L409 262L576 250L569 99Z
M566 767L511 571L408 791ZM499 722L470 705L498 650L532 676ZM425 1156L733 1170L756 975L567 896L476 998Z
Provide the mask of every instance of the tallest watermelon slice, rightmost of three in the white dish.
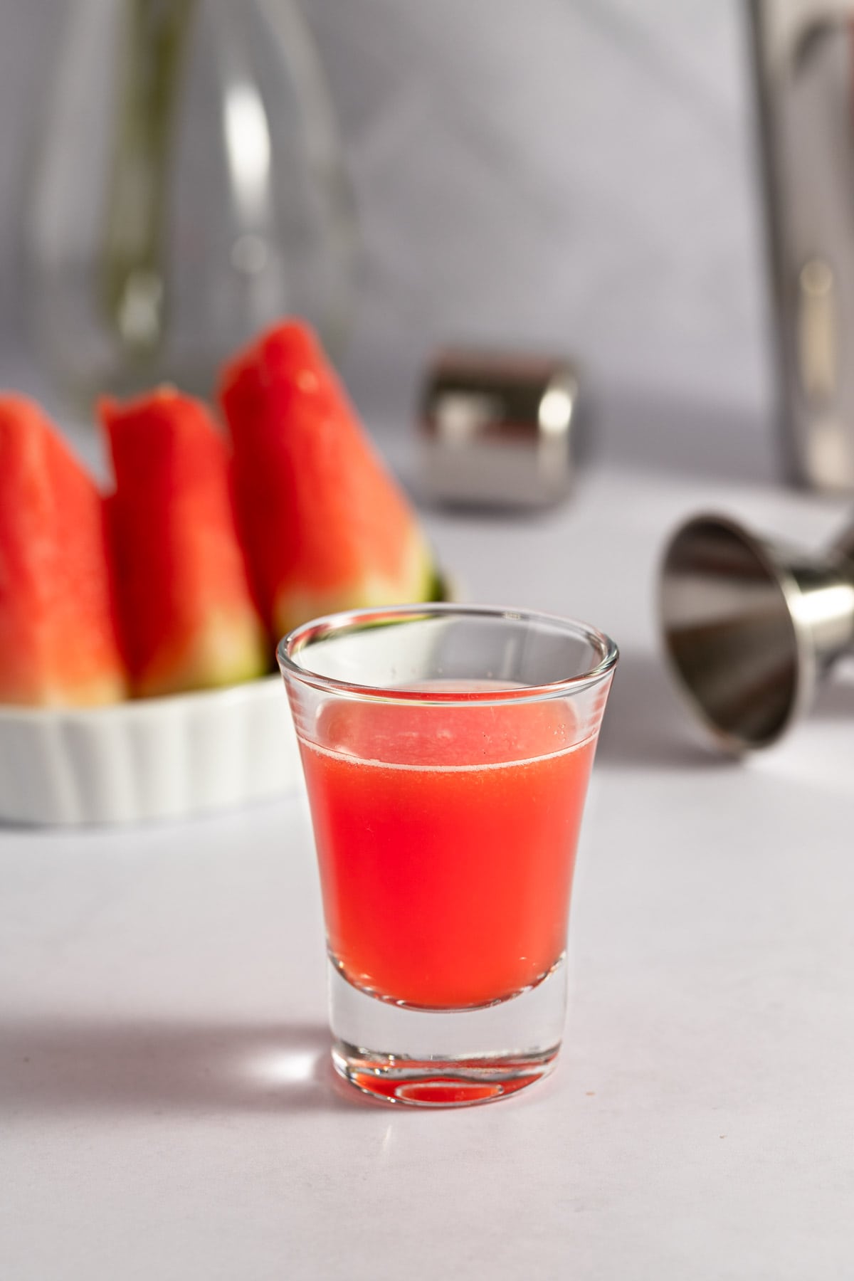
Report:
M268 330L224 369L234 493L256 594L282 635L335 610L429 600L415 514L303 324Z

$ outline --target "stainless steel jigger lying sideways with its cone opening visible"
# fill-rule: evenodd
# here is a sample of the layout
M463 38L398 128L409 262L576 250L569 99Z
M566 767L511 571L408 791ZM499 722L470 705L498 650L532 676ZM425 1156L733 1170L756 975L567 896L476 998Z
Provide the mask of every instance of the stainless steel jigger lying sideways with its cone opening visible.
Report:
M672 671L717 744L769 747L854 647L854 526L812 555L694 516L667 546L659 601Z

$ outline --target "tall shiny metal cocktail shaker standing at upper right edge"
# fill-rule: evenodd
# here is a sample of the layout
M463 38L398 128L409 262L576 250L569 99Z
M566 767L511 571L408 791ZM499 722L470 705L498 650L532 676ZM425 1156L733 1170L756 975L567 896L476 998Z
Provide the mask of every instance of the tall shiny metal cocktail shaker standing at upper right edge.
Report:
M750 15L787 470L854 493L854 0Z

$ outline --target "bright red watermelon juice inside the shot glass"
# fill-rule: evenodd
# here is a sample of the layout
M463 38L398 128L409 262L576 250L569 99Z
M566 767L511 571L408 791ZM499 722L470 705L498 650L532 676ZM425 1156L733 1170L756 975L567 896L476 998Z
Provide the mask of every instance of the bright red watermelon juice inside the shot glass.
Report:
M301 735L333 963L429 1009L502 1000L562 957L595 748L566 699L452 697L332 699Z

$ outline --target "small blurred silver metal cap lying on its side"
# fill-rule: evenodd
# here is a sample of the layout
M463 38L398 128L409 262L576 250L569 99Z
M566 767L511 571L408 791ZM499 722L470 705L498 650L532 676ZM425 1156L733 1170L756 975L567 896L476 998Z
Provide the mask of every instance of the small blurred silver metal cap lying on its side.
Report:
M566 360L444 351L421 393L430 496L465 506L545 507L571 489L579 379Z

